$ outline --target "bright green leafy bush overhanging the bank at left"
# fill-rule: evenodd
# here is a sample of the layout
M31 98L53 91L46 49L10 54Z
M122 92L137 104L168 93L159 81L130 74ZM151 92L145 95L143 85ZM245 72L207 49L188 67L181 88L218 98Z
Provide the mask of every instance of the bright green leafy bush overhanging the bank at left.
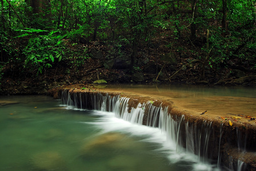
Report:
M26 56L24 67L33 70L37 68L38 73L42 74L43 69L52 67L56 61L60 62L65 55L65 44L63 44L63 36L57 35L58 31L50 31L46 35L37 35L46 30L29 28L27 30L16 30L25 32L25 34L17 36L23 38L30 36L27 46L23 49Z

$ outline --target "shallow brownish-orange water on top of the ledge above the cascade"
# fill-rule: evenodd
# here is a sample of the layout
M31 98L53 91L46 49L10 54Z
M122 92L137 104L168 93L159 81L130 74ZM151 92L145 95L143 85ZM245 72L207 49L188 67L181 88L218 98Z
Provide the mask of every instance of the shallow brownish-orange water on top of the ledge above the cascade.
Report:
M256 117L255 87L208 87L191 85L108 85L106 91L126 92L173 101L181 109L207 115L243 114Z

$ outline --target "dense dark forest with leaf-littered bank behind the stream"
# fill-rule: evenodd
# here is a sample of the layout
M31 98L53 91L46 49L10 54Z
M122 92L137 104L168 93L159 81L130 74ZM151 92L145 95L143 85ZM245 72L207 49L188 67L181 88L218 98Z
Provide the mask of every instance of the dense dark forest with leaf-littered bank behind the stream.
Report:
M255 0L0 0L1 94L256 85Z

